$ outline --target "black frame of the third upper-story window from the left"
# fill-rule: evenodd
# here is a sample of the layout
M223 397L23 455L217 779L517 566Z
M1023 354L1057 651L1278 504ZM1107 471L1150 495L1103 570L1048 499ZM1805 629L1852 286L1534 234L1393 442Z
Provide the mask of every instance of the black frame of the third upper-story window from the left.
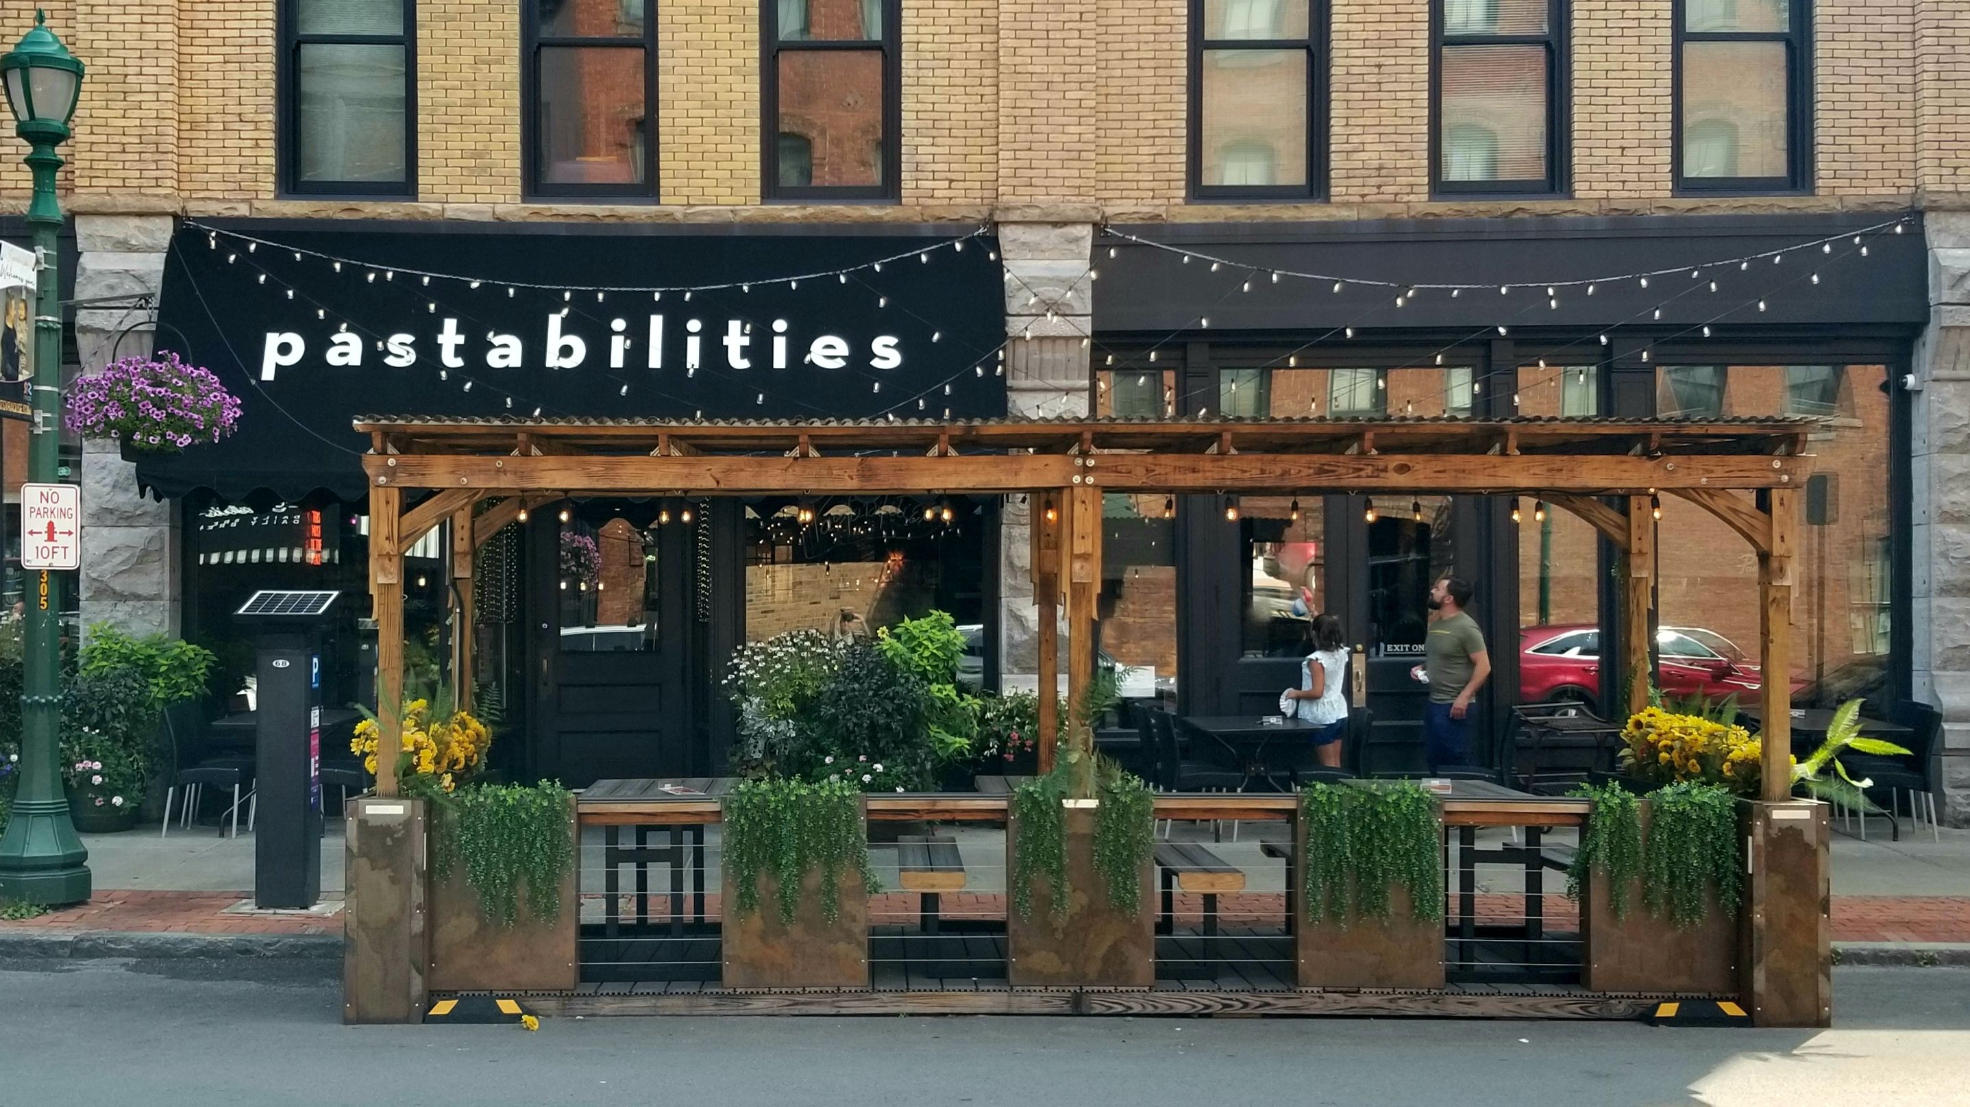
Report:
M758 195L762 203L898 203L902 199L902 0L883 2L881 39L780 41L780 2L758 4ZM883 181L877 185L780 183L780 51L883 51ZM810 162L812 163L812 162Z

